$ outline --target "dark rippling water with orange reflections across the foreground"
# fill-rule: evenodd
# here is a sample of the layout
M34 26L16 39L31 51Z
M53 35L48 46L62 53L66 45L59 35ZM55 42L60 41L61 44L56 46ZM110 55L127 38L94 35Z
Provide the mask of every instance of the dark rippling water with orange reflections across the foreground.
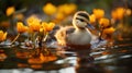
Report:
M132 40L85 50L48 48L56 58L41 62L34 49L0 47L0 73L132 73ZM54 57L52 59L54 59ZM34 61L29 62L30 59Z

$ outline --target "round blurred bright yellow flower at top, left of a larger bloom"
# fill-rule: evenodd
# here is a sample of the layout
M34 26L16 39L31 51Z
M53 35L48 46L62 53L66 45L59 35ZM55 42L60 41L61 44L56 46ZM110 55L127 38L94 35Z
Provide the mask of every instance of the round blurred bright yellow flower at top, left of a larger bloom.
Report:
M43 7L43 11L47 15L53 15L54 13L56 13L57 9L54 4L47 3L46 5Z

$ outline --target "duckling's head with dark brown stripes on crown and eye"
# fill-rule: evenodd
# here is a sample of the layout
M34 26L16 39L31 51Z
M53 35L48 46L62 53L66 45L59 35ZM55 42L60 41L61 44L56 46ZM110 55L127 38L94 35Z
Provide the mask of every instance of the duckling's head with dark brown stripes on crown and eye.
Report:
M76 28L85 29L89 24L89 14L86 11L78 11L73 19L73 25Z

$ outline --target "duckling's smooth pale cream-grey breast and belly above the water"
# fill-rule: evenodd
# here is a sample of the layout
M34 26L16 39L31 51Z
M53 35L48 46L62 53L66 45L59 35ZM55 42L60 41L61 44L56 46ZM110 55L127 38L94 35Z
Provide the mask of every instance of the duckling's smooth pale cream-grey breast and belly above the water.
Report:
M67 42L74 45L88 45L91 41L91 35L87 29L75 29L74 33L67 34Z

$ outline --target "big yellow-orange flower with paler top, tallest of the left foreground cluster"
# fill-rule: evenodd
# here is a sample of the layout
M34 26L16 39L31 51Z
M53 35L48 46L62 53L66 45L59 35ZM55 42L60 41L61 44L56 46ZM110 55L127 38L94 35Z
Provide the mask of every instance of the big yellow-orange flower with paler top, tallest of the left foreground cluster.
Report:
M31 16L26 20L28 25L29 25L29 31L30 32L38 32L41 28L41 21L35 17L35 16Z

